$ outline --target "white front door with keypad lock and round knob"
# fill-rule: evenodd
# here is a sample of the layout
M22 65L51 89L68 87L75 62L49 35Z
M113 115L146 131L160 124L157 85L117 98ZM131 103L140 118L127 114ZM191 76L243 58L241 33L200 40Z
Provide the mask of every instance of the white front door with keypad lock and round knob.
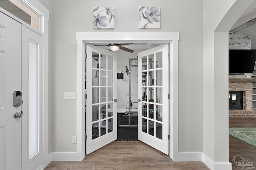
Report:
M21 106L13 106L13 92L21 91L21 30L20 23L0 12L1 170L21 169L22 117L14 118L21 113Z

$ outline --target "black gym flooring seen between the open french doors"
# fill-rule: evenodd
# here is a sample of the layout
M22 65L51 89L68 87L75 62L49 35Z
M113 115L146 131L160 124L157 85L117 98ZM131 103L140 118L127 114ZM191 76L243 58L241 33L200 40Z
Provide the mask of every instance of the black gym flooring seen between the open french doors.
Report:
M137 127L119 127L119 125L128 125L129 117L122 117L124 113L117 114L117 141L138 141ZM131 125L138 125L138 118L131 117Z

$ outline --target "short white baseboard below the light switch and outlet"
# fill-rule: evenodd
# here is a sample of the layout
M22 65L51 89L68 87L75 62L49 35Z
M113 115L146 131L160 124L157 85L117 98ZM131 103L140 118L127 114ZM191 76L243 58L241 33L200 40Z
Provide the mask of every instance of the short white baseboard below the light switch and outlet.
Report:
M53 161L78 161L76 152L52 152Z

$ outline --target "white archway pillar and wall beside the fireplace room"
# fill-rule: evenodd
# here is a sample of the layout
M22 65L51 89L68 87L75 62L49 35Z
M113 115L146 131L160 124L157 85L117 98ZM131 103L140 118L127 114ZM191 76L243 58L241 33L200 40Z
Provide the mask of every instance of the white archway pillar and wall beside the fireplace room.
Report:
M251 3L252 1L236 0L203 2L203 160L211 169L231 169L231 164L228 162L228 98L226 97L228 96L228 31Z

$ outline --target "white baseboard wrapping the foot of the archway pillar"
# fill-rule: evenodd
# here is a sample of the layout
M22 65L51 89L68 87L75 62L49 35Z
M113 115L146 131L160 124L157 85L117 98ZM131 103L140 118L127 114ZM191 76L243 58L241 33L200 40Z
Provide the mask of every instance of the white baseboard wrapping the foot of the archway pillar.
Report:
M213 162L206 154L202 154L202 161L210 170L232 170L230 162Z

